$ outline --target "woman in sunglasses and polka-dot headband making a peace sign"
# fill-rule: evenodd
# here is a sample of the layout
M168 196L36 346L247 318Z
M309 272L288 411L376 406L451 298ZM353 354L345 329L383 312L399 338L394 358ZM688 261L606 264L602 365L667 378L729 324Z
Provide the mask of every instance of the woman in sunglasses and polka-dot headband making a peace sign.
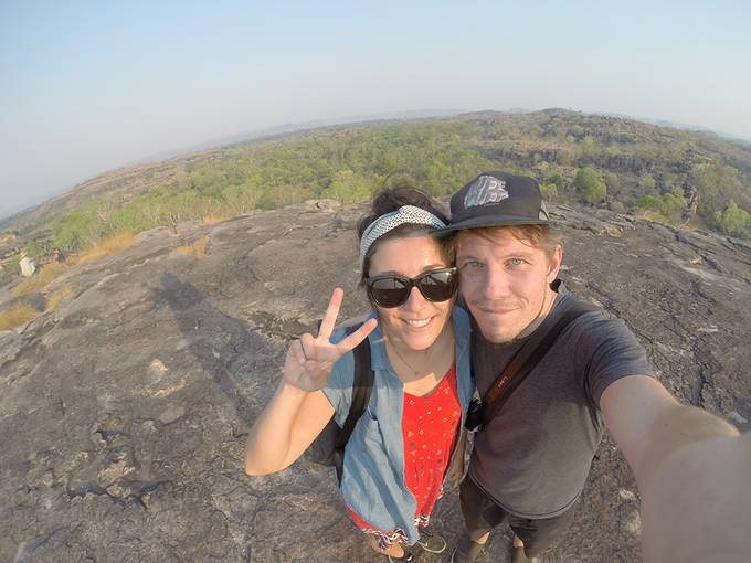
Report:
M427 529L459 439L473 385L469 322L454 307L457 273L451 251L430 232L446 217L424 193L379 194L359 226L361 283L373 306L355 332L334 332L342 291L334 290L318 337L287 352L282 382L251 429L246 471L279 471L352 397L351 350L369 338L373 387L345 450L340 490L355 523L389 561L412 561L406 545L433 553L446 542ZM461 475L461 471L459 471Z

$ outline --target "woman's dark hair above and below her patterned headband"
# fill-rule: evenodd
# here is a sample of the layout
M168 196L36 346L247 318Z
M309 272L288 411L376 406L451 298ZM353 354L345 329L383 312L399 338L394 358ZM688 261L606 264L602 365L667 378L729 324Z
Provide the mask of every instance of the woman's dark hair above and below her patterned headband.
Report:
M444 223L448 223L448 217L443 212L438 203L425 192L417 190L412 185L398 185L395 188L385 189L373 198L373 201L370 205L370 214L363 216L358 222L358 240L362 238L362 234L366 232L366 229L368 229L378 217L385 215L387 213L391 213L392 211L396 211L402 205L414 205L415 208L424 209L425 211L433 213ZM430 231L431 227L427 225L405 223L380 236L366 253L366 258L362 264L362 273L360 274L360 285L362 285L368 277L368 272L370 270L370 258L376 253L378 245L382 241L409 236L414 233L429 233ZM441 246L441 251L444 255L444 258L446 259L446 263L453 264L453 245L448 244L448 240L444 242L443 240L436 238L435 242Z

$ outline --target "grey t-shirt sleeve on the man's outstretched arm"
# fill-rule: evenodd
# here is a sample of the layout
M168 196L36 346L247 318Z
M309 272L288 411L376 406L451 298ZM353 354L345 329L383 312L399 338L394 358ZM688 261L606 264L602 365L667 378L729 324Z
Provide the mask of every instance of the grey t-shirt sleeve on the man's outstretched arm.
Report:
M607 385L628 375L655 376L646 351L626 326L604 312L583 315L581 338L577 347L578 369L585 373L585 385L594 405Z

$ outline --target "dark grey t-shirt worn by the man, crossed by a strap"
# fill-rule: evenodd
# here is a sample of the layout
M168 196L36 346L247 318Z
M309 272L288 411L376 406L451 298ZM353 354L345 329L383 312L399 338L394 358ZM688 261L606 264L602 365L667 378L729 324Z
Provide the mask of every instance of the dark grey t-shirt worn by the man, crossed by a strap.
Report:
M554 307L571 299L561 289ZM473 326L472 363L482 396L522 343L491 344ZM581 493L602 438L602 392L638 374L654 375L654 369L626 325L604 311L583 314L476 436L469 477L512 514L564 512Z

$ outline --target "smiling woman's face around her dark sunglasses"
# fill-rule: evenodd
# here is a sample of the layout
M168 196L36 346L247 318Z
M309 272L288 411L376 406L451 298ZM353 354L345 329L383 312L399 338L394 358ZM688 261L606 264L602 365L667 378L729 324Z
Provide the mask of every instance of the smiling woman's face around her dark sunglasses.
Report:
M377 244L370 258L370 277L395 274L414 278L431 269L452 266L443 257L440 244L430 235L387 238ZM429 301L420 289L413 287L403 305L376 309L381 330L392 343L412 350L425 350L435 342L448 321L454 300Z

